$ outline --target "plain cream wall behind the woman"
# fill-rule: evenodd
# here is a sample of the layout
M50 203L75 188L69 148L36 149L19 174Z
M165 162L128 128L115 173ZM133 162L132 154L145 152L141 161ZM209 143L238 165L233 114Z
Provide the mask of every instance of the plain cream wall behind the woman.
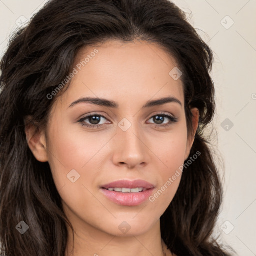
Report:
M47 0L0 0L0 58L10 33ZM225 164L216 226L238 255L256 255L256 0L173 0L214 52L214 148ZM233 125L233 126L232 126ZM221 166L221 162L219 163ZM13 224L15 226L16 224Z

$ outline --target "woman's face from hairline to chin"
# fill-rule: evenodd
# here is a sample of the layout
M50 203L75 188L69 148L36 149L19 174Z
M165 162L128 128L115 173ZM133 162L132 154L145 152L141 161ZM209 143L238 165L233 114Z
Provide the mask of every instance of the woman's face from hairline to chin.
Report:
M49 162L74 226L119 236L149 231L176 193L193 142L176 64L156 44L108 41L80 50L73 68L46 142L41 135L45 159L34 154Z

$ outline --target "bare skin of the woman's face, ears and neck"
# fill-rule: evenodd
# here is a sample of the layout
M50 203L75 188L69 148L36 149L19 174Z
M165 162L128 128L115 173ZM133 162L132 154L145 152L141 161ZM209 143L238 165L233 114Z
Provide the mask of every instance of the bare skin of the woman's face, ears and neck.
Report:
M146 200L138 206L117 205L99 187L119 179L143 179L155 186L154 194L189 156L198 109L191 109L193 134L187 137L182 81L169 75L175 60L158 45L107 41L96 48L99 52L54 102L46 130L36 133L33 126L26 127L28 145L38 161L49 162L64 212L75 230L73 242L68 228L66 256L164 255L159 219L181 175L153 202ZM82 48L74 67L94 49ZM142 108L148 100L170 95L182 106L169 102ZM90 103L68 107L81 97L106 98L119 107ZM161 126L152 118L161 112L178 121L171 123L165 117L163 124L170 125ZM89 113L106 115L107 119L100 119L102 127L88 128L78 122ZM118 126L123 118L131 124L127 131ZM83 123L93 125L89 121ZM75 183L66 177L72 169L80 175ZM130 226L125 234L118 228L123 221ZM165 244L163 248L166 255L172 255Z

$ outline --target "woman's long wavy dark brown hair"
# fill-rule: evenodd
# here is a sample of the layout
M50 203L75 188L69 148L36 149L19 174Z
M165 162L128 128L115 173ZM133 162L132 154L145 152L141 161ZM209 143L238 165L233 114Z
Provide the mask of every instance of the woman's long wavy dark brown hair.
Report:
M47 125L56 97L48 94L69 74L81 47L107 39L155 42L183 72L185 115L199 126L179 188L160 219L161 236L178 256L227 255L211 238L222 188L204 128L215 111L209 72L213 54L168 0L51 0L9 42L0 68L0 243L6 256L64 256L68 222L47 162L31 153L26 116ZM65 87L65 89L67 86ZM64 90L58 93L58 96ZM188 164L192 155L200 156ZM191 161L191 160L190 160ZM29 231L19 235L24 221Z

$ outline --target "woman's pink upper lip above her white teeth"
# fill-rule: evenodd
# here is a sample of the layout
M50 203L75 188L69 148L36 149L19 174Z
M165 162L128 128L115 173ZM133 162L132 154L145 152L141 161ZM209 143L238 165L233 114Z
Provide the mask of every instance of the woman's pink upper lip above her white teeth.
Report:
M136 180L122 179L122 180L116 180L101 186L101 188L106 188L106 189L108 189L109 187L121 187L121 188L143 187L146 189L150 189L150 188L153 188L154 185L142 179L136 179Z

